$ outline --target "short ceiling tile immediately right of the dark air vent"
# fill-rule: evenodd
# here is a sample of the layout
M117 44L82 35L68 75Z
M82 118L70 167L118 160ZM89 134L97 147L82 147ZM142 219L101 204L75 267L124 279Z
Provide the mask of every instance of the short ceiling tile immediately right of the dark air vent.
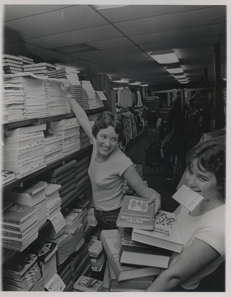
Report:
M109 50L114 48L125 48L134 46L134 43L131 42L127 37L88 42L88 44L94 46L95 48L98 48L99 50Z

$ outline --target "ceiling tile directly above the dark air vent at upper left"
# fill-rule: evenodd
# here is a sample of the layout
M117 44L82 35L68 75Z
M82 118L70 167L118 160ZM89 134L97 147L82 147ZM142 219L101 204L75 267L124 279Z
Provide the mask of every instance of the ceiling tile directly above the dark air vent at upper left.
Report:
M53 34L50 36L28 39L33 45L45 48L57 48L79 43L88 43L109 38L121 37L121 33L111 25L96 26L91 28L79 29L64 33Z

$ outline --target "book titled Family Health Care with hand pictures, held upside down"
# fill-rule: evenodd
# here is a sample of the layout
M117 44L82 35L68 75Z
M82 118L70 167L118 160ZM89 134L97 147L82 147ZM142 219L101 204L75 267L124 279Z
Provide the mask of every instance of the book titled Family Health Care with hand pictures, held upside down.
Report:
M148 204L146 198L125 195L116 225L152 230L154 210L155 203Z

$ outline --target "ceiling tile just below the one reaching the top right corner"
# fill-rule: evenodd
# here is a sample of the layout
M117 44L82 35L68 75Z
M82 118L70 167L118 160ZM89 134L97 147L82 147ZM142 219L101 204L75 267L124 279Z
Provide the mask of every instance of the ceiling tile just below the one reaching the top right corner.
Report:
M178 30L170 30L164 32L155 32L149 34L141 34L136 36L129 36L137 45L150 44L158 42L168 42L170 40L183 40L193 39L200 37L208 37L213 35L219 35L224 29L224 24L201 26L195 28L186 28ZM150 42L151 41L151 42Z

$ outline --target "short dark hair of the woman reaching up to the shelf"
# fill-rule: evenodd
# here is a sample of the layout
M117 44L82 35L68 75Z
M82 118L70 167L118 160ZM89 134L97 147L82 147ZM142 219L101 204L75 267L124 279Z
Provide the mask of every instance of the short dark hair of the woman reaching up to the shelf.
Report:
M110 111L103 111L95 121L92 127L92 134L96 138L100 129L106 129L112 126L116 134L119 134L119 141L124 137L123 121L118 114L113 114Z

